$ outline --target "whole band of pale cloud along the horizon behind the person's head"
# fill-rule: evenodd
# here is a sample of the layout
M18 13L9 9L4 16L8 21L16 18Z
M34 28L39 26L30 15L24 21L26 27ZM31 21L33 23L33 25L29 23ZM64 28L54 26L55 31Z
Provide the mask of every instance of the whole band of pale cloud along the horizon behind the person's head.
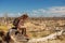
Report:
M11 17L17 17L21 16L23 13L27 13L29 16L35 16L35 17L53 17L53 16L64 16L65 17L65 6L52 6L52 8L47 8L47 9L38 9L38 10L27 10L25 12L20 12L20 13L9 13L8 15ZM3 16L4 14L1 14Z

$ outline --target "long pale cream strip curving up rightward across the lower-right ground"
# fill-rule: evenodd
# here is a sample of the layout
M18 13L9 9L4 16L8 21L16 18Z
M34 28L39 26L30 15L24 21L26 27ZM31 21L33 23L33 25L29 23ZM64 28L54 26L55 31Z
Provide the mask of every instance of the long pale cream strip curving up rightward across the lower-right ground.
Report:
M54 39L56 39L56 37L62 35L63 31L64 30L61 30L58 32L52 33L52 34L50 34L48 37L44 37L44 38L31 39L27 43L37 43L37 42L41 43L41 42L44 42L44 41L48 41L48 40L54 40Z

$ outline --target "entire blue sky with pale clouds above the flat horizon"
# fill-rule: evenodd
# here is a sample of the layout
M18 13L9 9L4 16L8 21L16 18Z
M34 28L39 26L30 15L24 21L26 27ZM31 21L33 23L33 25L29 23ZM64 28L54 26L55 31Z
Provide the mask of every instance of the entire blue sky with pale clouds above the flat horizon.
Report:
M0 0L0 16L64 16L65 0Z

